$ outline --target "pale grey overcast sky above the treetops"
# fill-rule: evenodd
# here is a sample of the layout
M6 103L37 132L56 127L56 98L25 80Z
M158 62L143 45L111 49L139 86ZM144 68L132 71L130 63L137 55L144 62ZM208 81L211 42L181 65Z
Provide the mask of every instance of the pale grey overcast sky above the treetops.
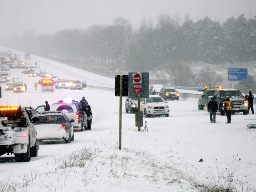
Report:
M0 36L22 34L33 29L37 34L53 34L61 29L88 29L110 25L124 17L138 29L143 16L157 23L157 16L186 14L193 22L209 16L220 23L234 16L256 15L256 0L0 0Z

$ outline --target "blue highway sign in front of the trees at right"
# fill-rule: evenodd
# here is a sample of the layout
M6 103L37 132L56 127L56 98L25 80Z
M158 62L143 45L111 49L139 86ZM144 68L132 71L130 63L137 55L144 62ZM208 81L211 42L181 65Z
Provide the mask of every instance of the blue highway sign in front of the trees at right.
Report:
M247 81L247 68L228 68L228 81L232 88L232 81Z

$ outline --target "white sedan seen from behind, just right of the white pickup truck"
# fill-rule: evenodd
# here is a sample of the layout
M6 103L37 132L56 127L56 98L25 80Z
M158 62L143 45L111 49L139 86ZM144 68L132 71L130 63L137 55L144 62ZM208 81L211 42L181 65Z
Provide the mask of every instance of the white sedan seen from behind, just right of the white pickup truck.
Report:
M32 122L37 132L38 141L63 140L65 143L74 141L74 128L70 120L61 111L40 112L33 116Z

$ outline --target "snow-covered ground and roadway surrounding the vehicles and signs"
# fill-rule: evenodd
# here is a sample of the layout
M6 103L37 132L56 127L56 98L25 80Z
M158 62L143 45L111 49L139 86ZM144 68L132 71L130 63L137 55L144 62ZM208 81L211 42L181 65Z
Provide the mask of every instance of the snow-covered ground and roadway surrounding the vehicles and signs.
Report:
M35 61L60 78L114 87L109 77L32 56L31 63ZM210 123L209 114L198 110L198 99L180 98L168 101L169 117L144 117L148 132L138 132L135 115L124 113L123 101L120 151L119 98L114 91L41 93L40 86L37 91L33 86L39 77L21 71L11 70L10 79L23 78L28 92L6 92L1 84L1 105L36 108L46 100L51 104L86 96L93 111L92 131L75 132L70 144L41 143L38 156L30 162L16 163L14 156L1 156L0 191L198 191L198 184L228 185L229 175L234 176L230 185L235 184L238 191L256 188L256 130L246 127L255 123L255 115L232 115L231 124L226 124L226 116L218 113L217 123Z

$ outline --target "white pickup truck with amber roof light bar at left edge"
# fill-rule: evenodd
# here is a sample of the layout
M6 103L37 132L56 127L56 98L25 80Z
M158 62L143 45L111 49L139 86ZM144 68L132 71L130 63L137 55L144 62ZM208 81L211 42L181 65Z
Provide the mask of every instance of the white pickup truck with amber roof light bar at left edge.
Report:
M0 107L0 156L14 154L16 162L37 156L36 130L23 107Z

